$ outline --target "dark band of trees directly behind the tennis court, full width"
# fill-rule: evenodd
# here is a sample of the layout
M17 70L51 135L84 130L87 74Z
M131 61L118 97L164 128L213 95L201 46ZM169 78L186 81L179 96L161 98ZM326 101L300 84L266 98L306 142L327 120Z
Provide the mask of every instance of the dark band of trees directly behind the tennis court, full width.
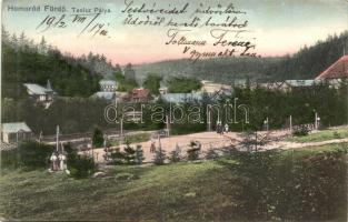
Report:
M201 101L188 101L181 105L186 112L182 121L170 125L171 134L185 134L191 132L201 132L207 130L207 105L213 104L220 107L221 121L225 124L227 112L223 108L227 100L233 101L238 98L238 105L246 104L249 111L250 123L245 123L243 110L237 112L238 123L231 123L229 128L232 131L262 130L264 121L269 119L270 129L282 129L289 125L289 115L292 115L292 124L314 123L315 112L320 117L321 127L334 127L347 124L347 100L348 82L342 82L339 89L331 88L322 83L314 88L294 89L291 91L266 90L262 88L236 88L231 95L213 97L203 94ZM325 102L322 102L325 101ZM105 108L108 101L84 98L59 98L44 109L42 105L36 105L30 99L4 99L2 101L2 122L24 121L36 134L54 133L56 125L59 124L63 133L91 132L96 127L100 129L119 129L120 124L110 124L105 120ZM162 105L167 112L170 103L159 100L157 105ZM119 109L125 103L119 103ZM188 114L192 111L191 105L200 107L200 117L202 122L193 123L188 121ZM140 111L140 104L135 105ZM279 109L281 108L281 109ZM127 122L126 130L160 130L163 123L151 121L155 111L152 107L143 109L143 123ZM196 111L195 111L196 112ZM229 111L229 119L232 118ZM178 118L180 113L172 113ZM216 128L218 111L212 109L211 123ZM165 120L163 120L165 121Z

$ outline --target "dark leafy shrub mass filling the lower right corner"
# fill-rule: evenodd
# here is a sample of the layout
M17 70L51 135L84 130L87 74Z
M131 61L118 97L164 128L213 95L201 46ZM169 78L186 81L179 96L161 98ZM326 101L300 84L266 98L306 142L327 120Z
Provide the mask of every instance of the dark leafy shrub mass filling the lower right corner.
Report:
M289 154L236 152L225 162L240 186L236 212L246 221L340 221L346 214L347 148ZM346 215L345 215L346 216ZM342 220L344 221L344 220Z

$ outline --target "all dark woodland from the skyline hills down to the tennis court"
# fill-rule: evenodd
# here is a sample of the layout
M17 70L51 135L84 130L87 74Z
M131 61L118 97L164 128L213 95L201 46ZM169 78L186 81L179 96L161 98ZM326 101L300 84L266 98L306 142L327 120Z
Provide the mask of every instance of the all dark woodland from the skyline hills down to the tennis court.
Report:
M83 99L99 90L98 82L101 78L111 74L125 91L129 91L138 87L133 79L137 75L138 82L142 82L155 94L158 93L158 87L162 81L169 84L167 87L172 92L188 87L199 88L199 82L193 78L225 83L246 77L260 81L311 79L342 56L347 39L348 32L332 36L326 41L305 47L298 53L284 58L223 58L202 60L195 64L189 60L177 60L142 67L128 64L122 71L103 56L89 53L87 57L74 58L71 54L62 54L43 38L40 43L33 43L24 33L16 37L2 30L2 97L8 99L2 103L1 120L26 121L36 133L43 131L48 134L53 133L57 124L61 125L64 133L91 131L95 127L117 128L118 125L108 124L102 117L107 101ZM148 73L152 75L146 78ZM182 81L183 77L190 81ZM53 89L67 98L59 98L49 109L44 109L22 97L24 95L22 83L44 85L48 79L52 82ZM260 129L266 117L269 118L270 128L274 129L284 128L290 114L294 117L294 124L310 123L315 112L319 113L325 127L347 123L347 82L338 90L327 84L290 92L259 88L235 89L231 97L225 99L239 98L250 108L250 124L230 125L233 131L253 127ZM202 104L217 102L215 98L205 98ZM223 100L218 102L225 103ZM279 110L279 107L282 109ZM151 114L149 112L145 113L146 119L149 119ZM202 115L205 117L205 113ZM162 127L148 121L146 124L126 124L125 129L157 130ZM173 134L180 134L205 131L207 125L183 122L173 124L171 129Z

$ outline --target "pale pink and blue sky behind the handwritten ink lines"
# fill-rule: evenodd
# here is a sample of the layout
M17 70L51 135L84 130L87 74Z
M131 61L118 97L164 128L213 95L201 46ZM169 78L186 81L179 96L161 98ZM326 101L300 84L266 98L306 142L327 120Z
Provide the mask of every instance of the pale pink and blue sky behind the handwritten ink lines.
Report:
M133 6L140 7L143 2L151 8L157 2L157 8L182 8L189 2L188 11L211 6L217 8L218 3L228 6L233 3L236 9L245 11L246 14L238 16L238 21L248 20L250 36L256 38L256 52L262 57L282 56L294 53L305 44L311 46L318 40L325 40L328 34L339 34L348 30L348 1L347 0L126 0L133 1ZM183 47L166 46L168 27L130 27L123 26L122 21L128 17L121 11L126 8L123 0L4 0L2 2L2 24L11 33L24 33L39 42L44 36L47 41L62 50L73 54L103 53L113 63L126 64L145 63L168 59L187 58L182 54ZM40 6L40 11L10 11L9 7ZM64 12L44 11L44 6L66 7ZM110 13L100 14L92 24L105 24L108 37L90 38L88 34L78 37L92 16L89 16L83 24L72 23L72 8L109 9ZM36 28L46 17L56 17L53 23L66 14L66 28L52 27L41 32L42 27ZM133 14L137 16L137 14ZM160 14L155 14L153 18ZM166 17L166 21L173 18L178 21L189 21L191 13ZM145 18L140 14L140 18ZM202 20L208 16L201 17ZM216 17L216 22L222 22L225 17ZM91 27L89 27L91 28ZM186 28L183 28L186 29ZM187 33L188 39L205 39L209 46L198 50L225 50L222 47L211 47L213 39L208 28L193 28ZM247 36L246 36L247 37Z

